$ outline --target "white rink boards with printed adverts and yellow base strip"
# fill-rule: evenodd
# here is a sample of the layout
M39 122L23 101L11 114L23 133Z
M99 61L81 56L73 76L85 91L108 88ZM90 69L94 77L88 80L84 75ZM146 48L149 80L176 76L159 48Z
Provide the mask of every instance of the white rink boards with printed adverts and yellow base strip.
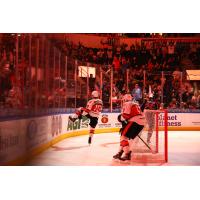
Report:
M0 122L0 165L20 165L65 138L88 134L87 118L71 123L68 116ZM121 124L117 116L118 113L101 114L95 133L118 131ZM168 130L200 130L200 113L168 113Z

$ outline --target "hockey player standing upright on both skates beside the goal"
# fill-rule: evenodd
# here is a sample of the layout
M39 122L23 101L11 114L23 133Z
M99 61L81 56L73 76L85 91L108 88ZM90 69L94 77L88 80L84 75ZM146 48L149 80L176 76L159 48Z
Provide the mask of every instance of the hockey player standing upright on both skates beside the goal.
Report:
M118 120L122 123L122 128L120 129L120 148L113 158L126 161L131 160L129 140L134 139L142 131L145 118L139 104L133 101L130 94L125 94L123 101L122 112L118 116ZM123 154L124 156L122 157Z

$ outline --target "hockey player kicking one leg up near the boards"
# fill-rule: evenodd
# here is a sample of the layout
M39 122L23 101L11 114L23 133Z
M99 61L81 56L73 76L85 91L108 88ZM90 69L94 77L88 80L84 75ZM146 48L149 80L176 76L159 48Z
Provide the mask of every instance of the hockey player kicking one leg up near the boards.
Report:
M91 144L92 137L94 134L94 130L96 128L96 125L98 123L99 115L103 108L103 102L101 99L99 99L99 93L98 91L93 91L92 99L87 102L86 108L80 107L77 109L76 113L74 115L70 115L69 119L74 122L77 119L81 119L82 116L86 116L90 119L90 131L89 131L89 138L88 143Z

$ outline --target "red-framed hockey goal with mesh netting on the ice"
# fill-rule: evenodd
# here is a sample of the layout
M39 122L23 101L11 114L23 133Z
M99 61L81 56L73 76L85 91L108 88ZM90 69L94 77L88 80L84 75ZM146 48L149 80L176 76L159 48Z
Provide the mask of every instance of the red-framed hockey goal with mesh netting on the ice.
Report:
M146 110L144 130L132 141L134 161L167 162L167 111Z

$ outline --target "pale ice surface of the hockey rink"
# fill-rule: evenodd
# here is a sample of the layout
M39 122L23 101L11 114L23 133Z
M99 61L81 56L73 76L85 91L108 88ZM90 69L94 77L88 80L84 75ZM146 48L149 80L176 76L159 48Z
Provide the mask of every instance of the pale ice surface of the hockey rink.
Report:
M200 131L168 133L168 163L117 162L112 159L119 148L119 134L96 134L87 144L88 135L67 138L26 165L31 166L200 166Z

